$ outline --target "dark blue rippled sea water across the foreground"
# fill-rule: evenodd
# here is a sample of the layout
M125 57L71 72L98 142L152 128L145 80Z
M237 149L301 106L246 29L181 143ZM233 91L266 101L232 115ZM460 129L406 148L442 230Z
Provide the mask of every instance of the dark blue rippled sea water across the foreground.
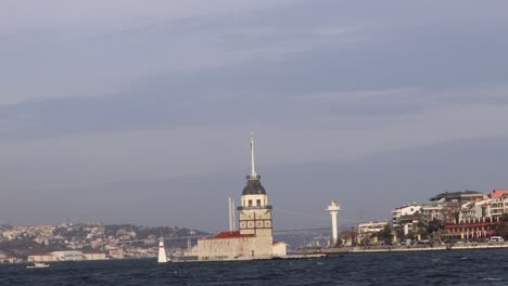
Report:
M172 263L112 260L0 264L0 285L508 285L508 249Z

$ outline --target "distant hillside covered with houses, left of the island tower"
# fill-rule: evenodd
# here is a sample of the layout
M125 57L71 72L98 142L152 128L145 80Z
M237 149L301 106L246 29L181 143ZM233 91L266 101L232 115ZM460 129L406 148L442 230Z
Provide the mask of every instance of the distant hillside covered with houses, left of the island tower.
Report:
M26 258L33 253L55 250L104 251L106 249L156 248L164 236L168 248L187 248L187 238L207 235L202 231L178 226L145 226L134 224L61 224L0 225L0 251Z

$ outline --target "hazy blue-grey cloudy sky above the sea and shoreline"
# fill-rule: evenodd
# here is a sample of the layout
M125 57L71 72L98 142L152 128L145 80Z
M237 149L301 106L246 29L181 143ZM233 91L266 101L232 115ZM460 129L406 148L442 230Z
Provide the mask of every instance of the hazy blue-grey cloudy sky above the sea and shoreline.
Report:
M0 0L0 224L276 229L508 187L508 2Z

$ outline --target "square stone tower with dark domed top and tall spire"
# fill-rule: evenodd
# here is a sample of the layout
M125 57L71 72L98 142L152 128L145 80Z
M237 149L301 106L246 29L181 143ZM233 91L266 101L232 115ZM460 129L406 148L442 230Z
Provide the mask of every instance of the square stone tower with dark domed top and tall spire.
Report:
M261 176L257 174L254 164L254 134L251 133L251 173L246 177L246 185L243 187L239 225L240 234L269 237L271 242L271 206L268 205L268 196L261 184Z

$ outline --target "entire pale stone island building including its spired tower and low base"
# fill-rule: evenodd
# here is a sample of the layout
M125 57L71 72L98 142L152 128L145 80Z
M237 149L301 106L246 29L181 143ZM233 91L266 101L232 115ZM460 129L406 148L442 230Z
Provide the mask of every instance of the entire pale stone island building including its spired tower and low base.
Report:
M199 260L249 260L284 257L287 245L274 243L271 206L261 184L254 164L254 136L251 135L251 174L242 192L239 231L228 231L213 238L198 239Z

